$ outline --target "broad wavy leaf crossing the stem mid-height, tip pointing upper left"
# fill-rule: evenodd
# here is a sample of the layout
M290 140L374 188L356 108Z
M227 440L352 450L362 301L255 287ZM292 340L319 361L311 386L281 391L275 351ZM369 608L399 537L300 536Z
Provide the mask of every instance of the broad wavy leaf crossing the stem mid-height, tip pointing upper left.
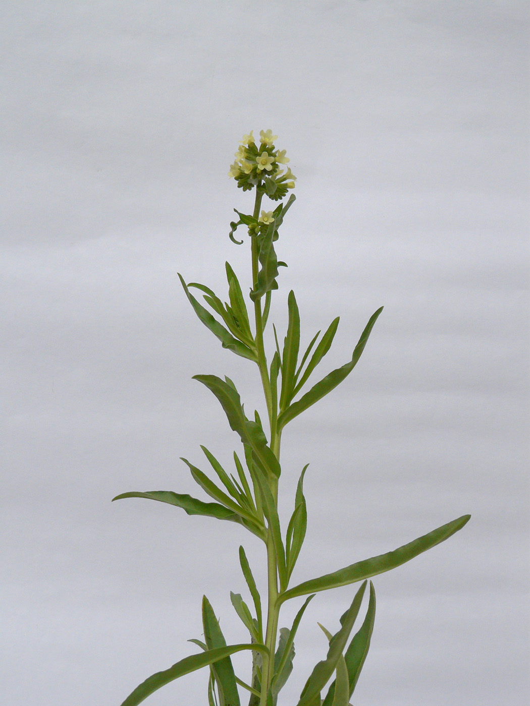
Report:
M256 422L249 421L245 417L237 390L215 375L194 375L193 379L206 385L216 395L228 417L230 428L237 431L243 443L250 445L264 472L271 472L276 477L279 477L281 469L278 459L267 445L267 440L261 427Z

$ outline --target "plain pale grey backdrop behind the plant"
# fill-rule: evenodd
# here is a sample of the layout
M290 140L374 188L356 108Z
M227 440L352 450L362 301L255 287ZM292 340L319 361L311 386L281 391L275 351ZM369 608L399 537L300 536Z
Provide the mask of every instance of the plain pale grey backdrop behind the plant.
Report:
M272 128L298 177L273 320L302 340L341 315L324 374L348 380L288 426L284 499L311 462L294 582L464 530L375 578L355 706L522 706L528 698L527 11L522 1L5 2L1 7L0 671L10 706L117 706L195 651L205 592L246 640L231 523L128 490L201 495L179 456L238 447L190 378L252 365L187 303L224 295L252 195L227 172ZM282 334L283 335L283 334ZM314 378L315 380L318 378ZM226 525L226 526L225 526ZM355 587L321 593L280 702L295 703ZM246 595L246 594L245 594ZM288 604L289 624L301 601ZM238 666L245 657L237 657ZM241 676L247 672L241 671ZM206 703L206 672L148 700Z

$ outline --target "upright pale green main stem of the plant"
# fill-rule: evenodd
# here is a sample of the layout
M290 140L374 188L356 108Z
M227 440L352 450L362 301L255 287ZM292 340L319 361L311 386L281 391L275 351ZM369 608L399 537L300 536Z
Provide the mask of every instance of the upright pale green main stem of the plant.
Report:
M261 206L261 198L263 191L256 189L256 201L254 203L254 218L259 217L259 207ZM258 242L257 236L252 236L252 283L254 289L257 285L258 276ZM267 411L269 412L269 424L271 427L271 450L276 458L280 457L280 435L276 431L276 417L278 410L273 409L271 381L269 379L269 369L267 368L267 360L265 356L265 348L263 342L263 321L261 315L261 300L254 301L254 318L256 323L256 348L258 354L259 373L261 375L261 384L265 393ZM274 502L278 504L278 479L269 479L271 493ZM268 577L268 607L267 607L267 625L265 635L265 645L269 648L269 655L264 654L263 664L261 667L261 695L259 706L266 706L267 693L269 691L274 670L274 652L276 648L276 634L278 632L278 563L276 559L276 549L272 538L272 532L269 527L267 534L267 577Z

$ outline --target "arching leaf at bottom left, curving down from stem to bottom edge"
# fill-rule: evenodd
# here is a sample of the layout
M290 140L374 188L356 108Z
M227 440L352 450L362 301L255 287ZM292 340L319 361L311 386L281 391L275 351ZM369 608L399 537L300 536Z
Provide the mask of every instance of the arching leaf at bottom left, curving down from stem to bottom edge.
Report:
M192 671L208 666L208 664L214 664L220 659L228 657L230 654L242 652L242 650L254 650L262 654L269 653L265 645L257 645L254 643L251 645L228 645L227 647L218 647L215 650L208 650L200 654L190 654L189 657L184 657L184 659L170 666L169 669L158 671L156 674L148 677L146 681L143 681L137 686L126 700L122 702L122 706L137 706L153 692L160 689L160 687L170 683L170 681L174 681L180 676L184 676L184 674L189 674Z

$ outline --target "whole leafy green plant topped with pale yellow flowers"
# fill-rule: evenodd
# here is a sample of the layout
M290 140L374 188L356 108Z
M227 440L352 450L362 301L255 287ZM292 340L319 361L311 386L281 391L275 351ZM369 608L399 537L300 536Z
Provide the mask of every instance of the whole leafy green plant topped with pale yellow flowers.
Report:
M295 177L290 169L281 171L281 165L289 160L285 157L285 150L276 149L274 140L276 136L273 136L271 130L260 132L259 146L252 132L245 135L229 172L230 177L237 181L237 186L243 191L256 190L252 215L236 211L239 220L230 224L232 241L242 244L243 241L236 240L234 236L240 226L247 227L250 239L253 286L249 298L252 302L253 317L249 316L240 283L228 263L226 275L229 303L225 304L205 285L195 282L186 284L179 275L184 292L202 323L218 337L224 348L257 365L266 402L266 424L260 419L258 412L255 412L254 419L247 417L240 394L230 378L225 377L223 380L215 375L196 375L194 379L206 385L216 396L228 418L230 428L242 442L243 453L238 455L234 452L237 478L234 474L228 474L216 457L201 446L208 464L216 474L217 483L188 460L182 460L189 467L197 484L213 499L213 503L172 491L130 492L114 498L149 498L176 505L188 515L207 515L217 520L239 523L264 542L268 573L266 599L262 602L245 549L240 546L241 569L254 610L252 611L241 594L231 593L230 597L237 616L249 633L249 640L227 645L216 614L208 599L203 597L204 640L191 640L200 647L201 652L184 657L169 669L150 676L134 689L122 706L136 706L158 688L202 667L208 667L208 706L240 706L239 688L249 693L249 706L276 706L278 693L293 670L294 639L307 604L317 592L362 582L351 605L341 616L338 630L332 634L322 628L329 640L329 649L307 678L296 704L348 706L370 647L374 625L375 590L370 581L365 617L350 640L367 580L443 542L464 527L470 517L463 515L387 554L356 561L295 586L289 585L307 528L307 506L303 490L307 465L300 473L293 513L288 520L287 530L283 533L278 516L280 441L283 430L292 419L331 392L351 373L365 349L382 307L377 309L365 326L351 360L307 389L307 381L331 347L338 318L331 322L322 337L319 332L312 338L300 358L300 313L295 294L291 291L288 295L288 325L283 347L278 341L276 328L273 327L276 349L270 357L270 362L268 361L264 347L264 330L269 321L272 292L278 289L278 266L284 264L278 262L274 243L278 240L278 231L285 213L295 201L295 196L291 195L285 204L278 203L274 210L261 209L264 197L281 202L295 186ZM205 303L213 313L194 297L190 291L192 289L202 292ZM300 395L304 389L305 392ZM278 630L281 606L286 601L299 597L305 597L305 602L300 606L292 625L290 628ZM252 666L249 667L251 676L248 682L236 676L230 660L231 654L245 650L252 655ZM331 684L323 696L322 691L330 680Z

